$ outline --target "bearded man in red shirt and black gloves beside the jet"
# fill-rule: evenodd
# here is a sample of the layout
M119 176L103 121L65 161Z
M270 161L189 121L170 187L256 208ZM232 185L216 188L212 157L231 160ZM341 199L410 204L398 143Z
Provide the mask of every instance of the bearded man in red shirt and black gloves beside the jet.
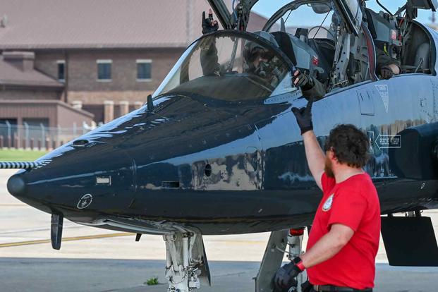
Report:
M324 152L313 133L312 99L293 108L312 176L324 193L310 231L307 251L274 276L287 291L307 269L310 291L372 291L379 248L380 206L377 190L363 171L368 138L352 125L331 130Z

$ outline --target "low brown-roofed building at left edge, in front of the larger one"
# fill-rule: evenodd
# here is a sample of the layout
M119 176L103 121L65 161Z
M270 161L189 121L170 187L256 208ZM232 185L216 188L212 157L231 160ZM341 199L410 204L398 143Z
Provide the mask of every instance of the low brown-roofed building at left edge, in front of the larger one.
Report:
M21 51L0 56L0 123L47 127L91 123L92 114L62 102L63 83L35 70L34 59L34 53Z

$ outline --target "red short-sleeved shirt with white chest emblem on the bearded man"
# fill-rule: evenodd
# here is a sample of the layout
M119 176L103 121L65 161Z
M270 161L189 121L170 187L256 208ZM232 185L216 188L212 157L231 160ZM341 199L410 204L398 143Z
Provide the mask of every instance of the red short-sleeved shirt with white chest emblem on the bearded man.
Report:
M330 231L331 224L343 224L355 232L334 257L307 270L309 281L313 285L373 288L380 237L377 190L368 174L356 174L341 183L323 174L321 182L324 197L315 214L307 249Z

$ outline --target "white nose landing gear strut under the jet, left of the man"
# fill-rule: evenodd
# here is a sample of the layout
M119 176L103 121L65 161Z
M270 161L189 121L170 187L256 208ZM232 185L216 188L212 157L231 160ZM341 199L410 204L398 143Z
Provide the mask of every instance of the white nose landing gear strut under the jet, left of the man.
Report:
M169 292L191 292L200 288L200 277L210 282L202 236L198 233L173 233L166 242L166 279Z

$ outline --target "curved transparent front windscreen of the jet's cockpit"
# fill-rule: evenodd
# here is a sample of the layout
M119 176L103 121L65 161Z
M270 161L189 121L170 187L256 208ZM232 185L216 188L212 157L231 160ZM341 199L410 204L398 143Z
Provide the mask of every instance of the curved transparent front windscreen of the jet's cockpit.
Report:
M172 93L237 102L295 89L287 64L274 49L252 37L221 32L193 43L154 97Z

